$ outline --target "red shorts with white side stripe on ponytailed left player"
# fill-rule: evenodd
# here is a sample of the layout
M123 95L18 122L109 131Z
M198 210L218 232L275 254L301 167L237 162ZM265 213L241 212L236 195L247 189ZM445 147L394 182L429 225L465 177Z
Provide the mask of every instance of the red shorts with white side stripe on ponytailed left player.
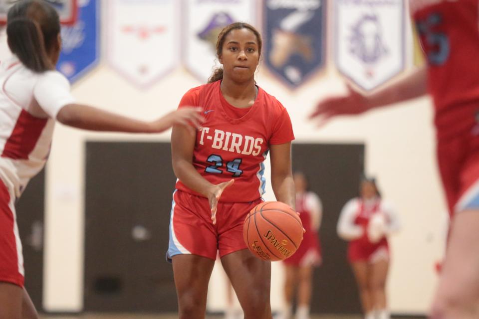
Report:
M23 287L23 255L14 200L15 196L0 180L0 282Z

